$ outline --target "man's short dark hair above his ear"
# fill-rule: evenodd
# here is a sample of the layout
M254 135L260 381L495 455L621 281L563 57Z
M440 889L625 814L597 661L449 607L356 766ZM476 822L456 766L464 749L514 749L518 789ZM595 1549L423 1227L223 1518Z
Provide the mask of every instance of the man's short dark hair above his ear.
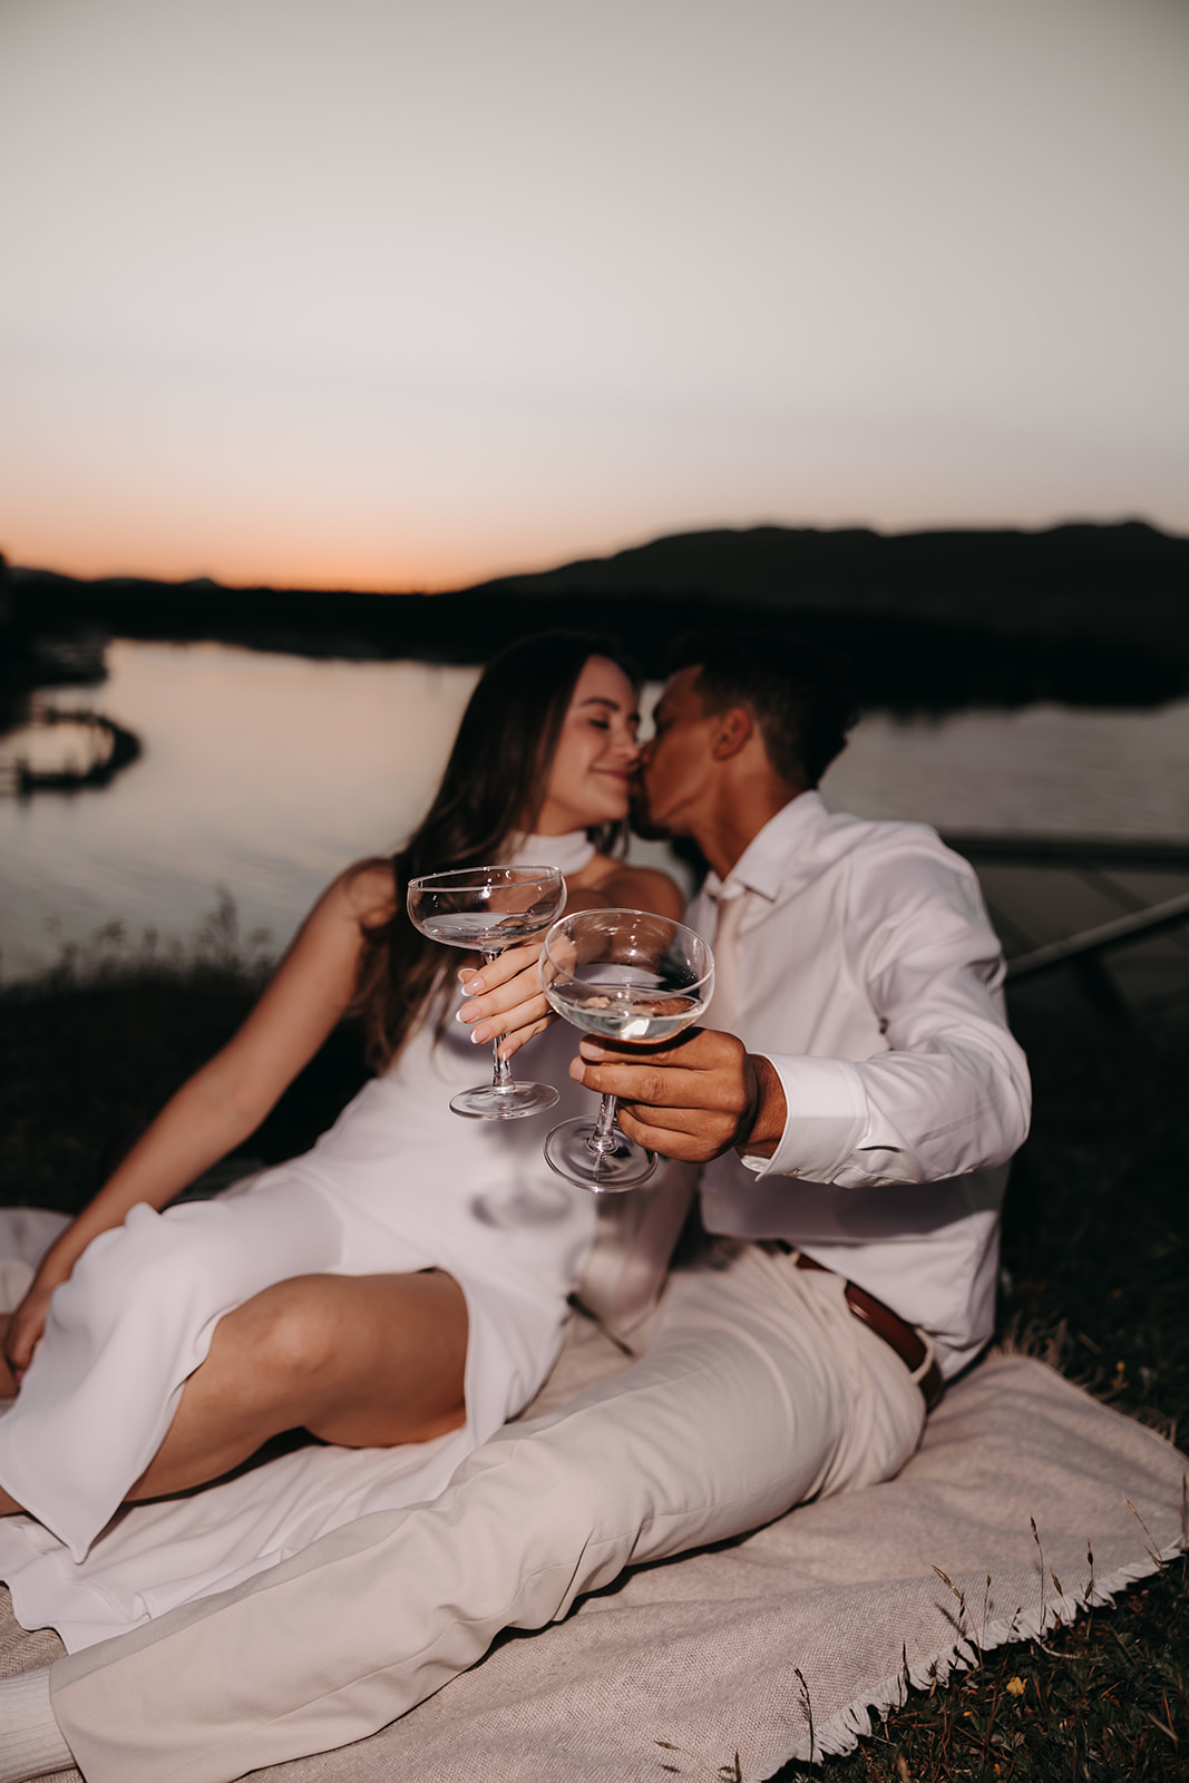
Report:
M745 706L790 786L816 786L859 717L838 665L791 631L688 631L668 667L699 669L693 690L706 711Z

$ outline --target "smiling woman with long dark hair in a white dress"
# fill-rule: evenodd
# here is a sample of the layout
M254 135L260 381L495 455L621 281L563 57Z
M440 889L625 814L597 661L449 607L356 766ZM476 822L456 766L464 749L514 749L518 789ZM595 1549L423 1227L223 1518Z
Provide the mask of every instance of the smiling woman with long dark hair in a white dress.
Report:
M405 892L424 872L519 859L560 867L570 909L679 915L667 875L606 852L627 815L635 724L633 683L606 640L556 633L496 658L408 845L330 886L242 1029L52 1246L5 1339L21 1393L0 1419L0 1510L41 1524L0 1519L18 1605L32 1589L21 1567L46 1542L57 1574L62 1548L82 1565L121 1503L216 1480L283 1430L401 1446L385 1503L403 1503L440 1491L533 1396L594 1204L551 1177L538 1123L465 1122L447 1104L476 1077L472 1043L506 1036L512 1056L547 1027L540 943L463 965L458 1004L460 956L412 929ZM314 1150L159 1214L246 1139L348 1013L378 1075ZM533 1063L567 1093L572 1036L554 1036L542 1045L556 1059ZM308 1457L291 1460L310 1471ZM360 1514L342 1482L323 1498L333 1521ZM234 1576L332 1526L310 1523L299 1491L291 1508L264 1558L244 1537ZM228 1582L226 1553L187 1565L187 1596ZM137 1589L137 1605L164 1608L171 1589L153 1601Z

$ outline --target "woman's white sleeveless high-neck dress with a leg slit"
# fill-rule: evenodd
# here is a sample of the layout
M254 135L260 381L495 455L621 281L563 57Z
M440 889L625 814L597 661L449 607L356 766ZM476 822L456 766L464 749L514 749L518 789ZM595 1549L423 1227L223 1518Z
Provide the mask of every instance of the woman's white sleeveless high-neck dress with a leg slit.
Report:
M554 856L569 847L567 870L574 840L549 838ZM0 1417L0 1483L34 1512L0 1517L0 1578L25 1628L57 1628L73 1651L353 1517L433 1498L533 1398L595 1232L594 1196L542 1157L549 1127L592 1105L567 1077L574 1050L556 1023L515 1056L517 1075L562 1091L544 1120L463 1120L449 1098L483 1082L490 1048L453 1020L435 1041L426 1023L312 1152L212 1202L134 1207L94 1239ZM392 1450L303 1448L191 1498L119 1508L225 1312L294 1275L428 1268L467 1302L460 1430Z

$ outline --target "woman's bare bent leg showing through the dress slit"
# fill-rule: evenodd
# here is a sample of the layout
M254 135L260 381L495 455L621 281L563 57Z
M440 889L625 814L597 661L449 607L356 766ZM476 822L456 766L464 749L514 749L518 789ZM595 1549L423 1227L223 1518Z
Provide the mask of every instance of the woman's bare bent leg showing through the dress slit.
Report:
M282 1430L348 1448L456 1430L465 1359L467 1303L440 1269L278 1282L219 1319L128 1498L216 1480Z

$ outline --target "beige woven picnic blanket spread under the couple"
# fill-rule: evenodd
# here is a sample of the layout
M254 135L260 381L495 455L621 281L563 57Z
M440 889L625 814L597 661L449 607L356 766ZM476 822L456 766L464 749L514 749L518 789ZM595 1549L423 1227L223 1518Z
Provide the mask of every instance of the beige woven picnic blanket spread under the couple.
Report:
M576 1327L531 1410L620 1366ZM1155 1573L1185 1544L1187 1475L1155 1432L996 1353L950 1389L897 1480L640 1567L565 1623L506 1635L373 1738L257 1776L759 1783L790 1758L849 1751L906 1676L945 1678L975 1646L1043 1633ZM0 1619L0 1674L59 1651Z

